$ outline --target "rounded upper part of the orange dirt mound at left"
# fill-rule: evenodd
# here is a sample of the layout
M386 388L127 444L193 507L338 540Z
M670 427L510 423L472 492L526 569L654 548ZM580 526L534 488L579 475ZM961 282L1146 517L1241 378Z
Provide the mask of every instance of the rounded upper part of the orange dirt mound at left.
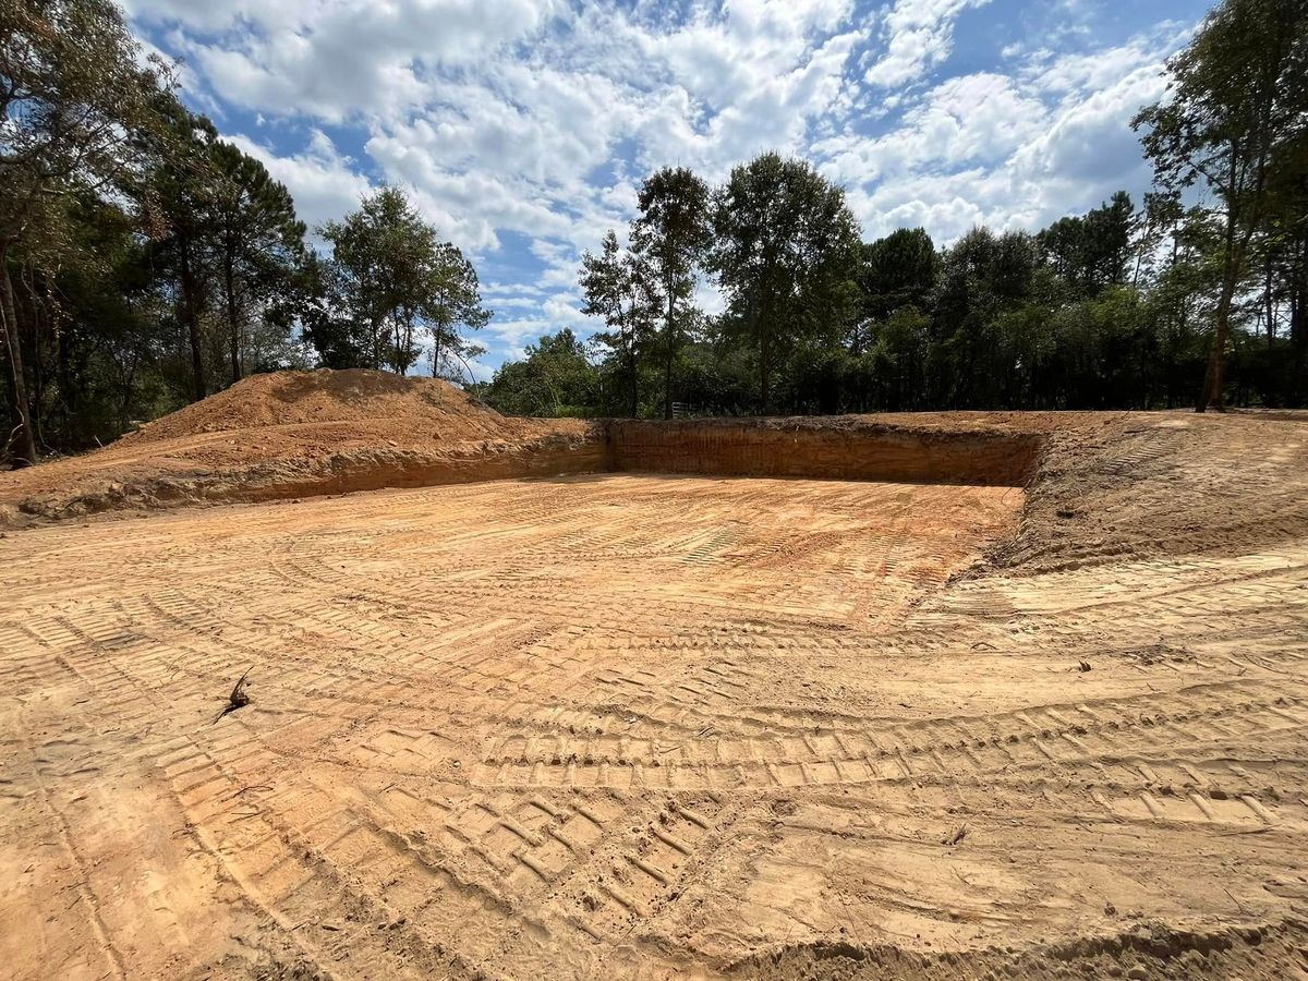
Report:
M139 446L234 429L378 420L420 422L446 439L481 438L504 424L498 412L449 382L324 369L251 375L141 426L120 443Z

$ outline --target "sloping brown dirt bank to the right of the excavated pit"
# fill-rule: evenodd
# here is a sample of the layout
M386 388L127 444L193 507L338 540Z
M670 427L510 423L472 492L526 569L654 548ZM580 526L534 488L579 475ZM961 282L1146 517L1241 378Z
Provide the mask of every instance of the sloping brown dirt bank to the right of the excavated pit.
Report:
M1048 425L1001 565L1056 572L1308 535L1308 419L1069 413Z

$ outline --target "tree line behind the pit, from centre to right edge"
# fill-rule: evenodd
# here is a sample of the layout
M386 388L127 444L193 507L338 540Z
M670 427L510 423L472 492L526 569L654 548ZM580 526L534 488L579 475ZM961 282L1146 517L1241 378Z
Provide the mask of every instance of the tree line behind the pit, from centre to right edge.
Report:
M579 271L603 327L479 386L531 415L1104 409L1308 399L1308 4L1224 0L1133 120L1155 182L1028 234L862 242L776 153L642 186ZM713 284L722 310L696 306Z

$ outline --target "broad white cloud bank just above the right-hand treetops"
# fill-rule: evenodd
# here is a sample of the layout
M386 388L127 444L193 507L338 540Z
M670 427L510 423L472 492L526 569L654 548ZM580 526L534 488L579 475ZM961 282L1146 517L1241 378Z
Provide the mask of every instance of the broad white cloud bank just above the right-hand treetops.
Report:
M925 226L950 242L973 225L1035 230L1144 183L1130 119L1164 86L1175 30L1095 58L1037 51L1012 75L946 78L875 137L815 144L869 237Z

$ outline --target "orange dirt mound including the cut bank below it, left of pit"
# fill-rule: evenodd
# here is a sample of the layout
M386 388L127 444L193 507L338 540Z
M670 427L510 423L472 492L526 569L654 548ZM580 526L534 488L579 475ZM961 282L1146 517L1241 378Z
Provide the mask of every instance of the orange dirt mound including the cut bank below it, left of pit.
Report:
M433 378L246 378L82 456L0 473L0 527L101 511L264 501L603 467L604 432L508 419Z

